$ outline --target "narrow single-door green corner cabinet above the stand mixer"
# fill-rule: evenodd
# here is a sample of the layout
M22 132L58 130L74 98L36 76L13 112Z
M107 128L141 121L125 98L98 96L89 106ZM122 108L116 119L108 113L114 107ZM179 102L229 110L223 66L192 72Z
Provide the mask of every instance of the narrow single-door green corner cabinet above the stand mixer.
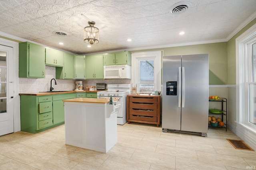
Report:
M85 56L75 55L75 79L85 79Z

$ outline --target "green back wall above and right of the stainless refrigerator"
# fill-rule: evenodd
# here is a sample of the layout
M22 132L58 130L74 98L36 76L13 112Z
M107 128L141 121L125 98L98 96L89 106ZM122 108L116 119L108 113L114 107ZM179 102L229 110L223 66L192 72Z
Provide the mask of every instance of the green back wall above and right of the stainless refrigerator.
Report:
M228 83L227 42L187 45L180 47L168 47L161 49L150 49L131 52L134 53L157 50L162 50L164 56L207 53L209 54L209 84L223 85Z

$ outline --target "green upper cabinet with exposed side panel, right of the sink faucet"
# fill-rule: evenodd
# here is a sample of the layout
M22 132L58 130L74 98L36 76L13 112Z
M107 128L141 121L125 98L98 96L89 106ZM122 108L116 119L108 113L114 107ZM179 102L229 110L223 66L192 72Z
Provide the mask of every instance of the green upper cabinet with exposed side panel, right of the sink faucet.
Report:
M57 79L74 79L74 55L64 53L63 67L56 67Z

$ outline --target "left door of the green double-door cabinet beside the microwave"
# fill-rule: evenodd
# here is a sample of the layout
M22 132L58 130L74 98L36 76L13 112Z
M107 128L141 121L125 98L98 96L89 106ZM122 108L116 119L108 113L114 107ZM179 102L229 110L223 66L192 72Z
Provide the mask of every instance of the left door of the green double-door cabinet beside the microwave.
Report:
M94 57L97 55L88 55L85 57L85 76L86 79L94 79Z

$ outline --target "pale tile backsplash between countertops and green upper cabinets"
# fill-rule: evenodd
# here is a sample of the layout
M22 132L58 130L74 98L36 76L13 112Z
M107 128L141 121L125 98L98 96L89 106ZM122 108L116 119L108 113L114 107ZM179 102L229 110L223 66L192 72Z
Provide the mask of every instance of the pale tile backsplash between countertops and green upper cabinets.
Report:
M19 93L46 92L50 90L50 81L56 78L55 67L46 66L45 78L19 78ZM96 86L96 83L106 84L130 84L130 79L105 79L105 80L82 80L84 88L88 86ZM54 91L74 90L76 88L76 80L56 79L57 85L52 81Z

